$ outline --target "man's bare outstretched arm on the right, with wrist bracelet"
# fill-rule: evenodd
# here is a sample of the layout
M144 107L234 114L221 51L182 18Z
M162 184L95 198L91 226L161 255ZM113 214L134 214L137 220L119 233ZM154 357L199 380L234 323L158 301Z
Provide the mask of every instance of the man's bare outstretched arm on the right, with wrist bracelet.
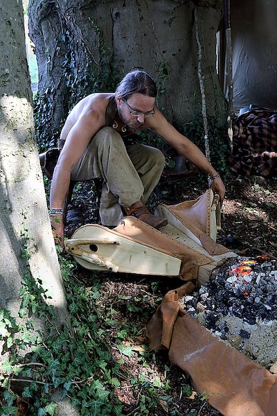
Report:
M217 172L215 171L215 168L208 162L208 159L202 151L193 144L188 137L177 132L159 110L155 108L155 111L156 113L154 116L149 118L145 125L149 126L152 130L157 132L159 136L163 137L163 139L166 140L170 146L175 148L180 155L183 155L186 159L195 164L195 166L199 168L199 171L205 172L212 177L213 175L216 175ZM213 179L212 189L219 194L220 200L223 202L225 187L219 176Z

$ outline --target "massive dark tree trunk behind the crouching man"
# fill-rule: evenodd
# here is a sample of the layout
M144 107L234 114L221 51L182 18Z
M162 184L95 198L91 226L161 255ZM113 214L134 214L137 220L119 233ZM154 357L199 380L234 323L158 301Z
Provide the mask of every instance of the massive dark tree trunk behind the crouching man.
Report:
M116 80L134 67L143 67L157 79L157 103L169 121L182 125L201 114L195 8L208 116L217 117L222 125L226 103L216 73L222 4L222 0L30 0L39 96L48 88L53 104L45 125L50 136L60 129L69 104L91 92L112 91Z

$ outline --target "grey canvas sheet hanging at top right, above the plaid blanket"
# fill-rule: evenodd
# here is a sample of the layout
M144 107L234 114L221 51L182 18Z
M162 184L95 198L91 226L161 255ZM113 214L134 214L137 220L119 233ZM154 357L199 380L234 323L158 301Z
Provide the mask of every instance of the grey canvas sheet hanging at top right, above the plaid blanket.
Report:
M277 2L231 0L233 105L277 109Z

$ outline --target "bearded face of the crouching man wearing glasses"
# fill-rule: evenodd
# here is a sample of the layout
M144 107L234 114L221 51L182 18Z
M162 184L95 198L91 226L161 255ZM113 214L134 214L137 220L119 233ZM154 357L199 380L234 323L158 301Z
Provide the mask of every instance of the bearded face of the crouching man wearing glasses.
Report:
M120 119L132 130L139 130L145 122L145 114L151 114L154 110L155 98L135 92L125 101L120 96L116 98ZM138 112L139 115L132 115Z

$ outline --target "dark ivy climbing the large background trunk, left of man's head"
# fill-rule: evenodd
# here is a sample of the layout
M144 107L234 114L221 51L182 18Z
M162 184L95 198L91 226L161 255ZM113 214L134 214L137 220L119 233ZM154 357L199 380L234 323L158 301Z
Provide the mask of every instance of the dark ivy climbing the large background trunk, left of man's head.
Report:
M63 53L62 78L66 80L66 97L64 99L64 114L68 114L72 107L93 92L105 91L112 92L119 82L118 71L114 65L111 48L106 46L100 27L96 21L89 19L92 30L98 37L99 62L92 62L91 55L86 44L82 43L82 52L84 53L83 64L77 62L75 58L75 49L70 31L65 31L60 35L60 43L64 46L58 48L57 53ZM63 52L62 52L63 51ZM75 71L75 68L78 68ZM44 92L40 92L34 97L34 119L35 119L35 136L39 152L57 145L57 139L60 137L64 119L60 121L59 127L50 132L47 128L51 125L55 105L53 103L54 87L48 87Z

